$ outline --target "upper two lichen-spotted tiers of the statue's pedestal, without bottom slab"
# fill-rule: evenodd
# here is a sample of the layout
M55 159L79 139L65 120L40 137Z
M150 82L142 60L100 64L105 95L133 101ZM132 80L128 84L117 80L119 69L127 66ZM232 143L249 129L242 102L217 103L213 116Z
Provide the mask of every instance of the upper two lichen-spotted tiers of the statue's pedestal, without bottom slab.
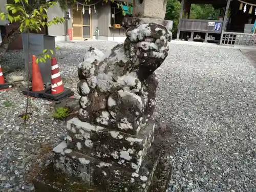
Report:
M161 153L152 145L155 126L130 135L73 118L67 141L53 150L55 171L99 189L149 191Z

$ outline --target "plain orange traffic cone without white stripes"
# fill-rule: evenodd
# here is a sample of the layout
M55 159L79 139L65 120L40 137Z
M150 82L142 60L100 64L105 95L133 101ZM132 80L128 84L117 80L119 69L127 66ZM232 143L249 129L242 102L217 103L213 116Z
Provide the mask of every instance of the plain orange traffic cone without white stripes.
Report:
M36 56L32 56L32 91L38 92L45 89L44 82L38 64L36 63Z

